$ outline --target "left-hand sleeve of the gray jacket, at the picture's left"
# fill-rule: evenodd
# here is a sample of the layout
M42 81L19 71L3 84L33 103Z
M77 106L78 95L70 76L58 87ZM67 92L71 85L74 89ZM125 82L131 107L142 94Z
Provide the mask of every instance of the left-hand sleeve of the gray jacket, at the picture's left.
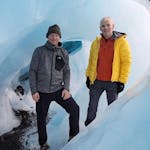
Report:
M32 55L30 68L29 68L29 84L30 84L30 89L31 89L32 94L38 91L37 90L37 71L38 71L38 66L39 66L39 59L40 59L39 51L38 49L35 49Z

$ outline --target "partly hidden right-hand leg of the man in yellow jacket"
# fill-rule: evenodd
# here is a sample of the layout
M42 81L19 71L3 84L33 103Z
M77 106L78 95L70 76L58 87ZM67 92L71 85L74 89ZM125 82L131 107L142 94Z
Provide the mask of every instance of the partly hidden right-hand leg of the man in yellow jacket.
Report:
M116 83L113 82L107 83L106 94L107 94L108 105L110 105L113 101L115 101L118 98Z

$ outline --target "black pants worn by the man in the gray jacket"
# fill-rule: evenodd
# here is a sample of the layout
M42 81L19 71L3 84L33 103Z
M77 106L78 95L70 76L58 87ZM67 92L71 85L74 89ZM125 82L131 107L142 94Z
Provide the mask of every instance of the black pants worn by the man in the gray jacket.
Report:
M46 132L46 116L48 113L49 105L52 101L57 102L69 113L69 136L75 136L79 132L79 106L71 97L63 100L61 97L62 90L54 93L39 93L40 100L36 103L37 112L37 127L39 134L39 144L43 145L47 141Z

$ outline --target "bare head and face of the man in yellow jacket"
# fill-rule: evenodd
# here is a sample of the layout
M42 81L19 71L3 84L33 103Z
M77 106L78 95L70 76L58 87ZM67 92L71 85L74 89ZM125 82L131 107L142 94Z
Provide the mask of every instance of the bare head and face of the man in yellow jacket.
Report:
M111 20L103 20L100 25L103 36L108 39L113 35L114 24Z

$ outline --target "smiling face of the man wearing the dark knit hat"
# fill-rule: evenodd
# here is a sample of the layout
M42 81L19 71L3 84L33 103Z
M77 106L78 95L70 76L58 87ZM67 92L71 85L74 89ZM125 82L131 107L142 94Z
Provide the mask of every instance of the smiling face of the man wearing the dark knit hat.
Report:
M58 46L58 43L60 42L60 37L58 34L56 33L51 33L49 36L48 36L48 41L55 45L55 46Z

